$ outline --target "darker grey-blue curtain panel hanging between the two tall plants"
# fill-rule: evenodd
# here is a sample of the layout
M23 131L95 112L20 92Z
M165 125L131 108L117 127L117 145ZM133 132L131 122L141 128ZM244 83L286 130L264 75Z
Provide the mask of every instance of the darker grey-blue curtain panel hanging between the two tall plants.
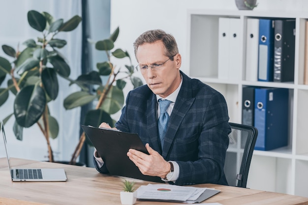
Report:
M94 45L89 43L109 38L110 36L110 0L82 0L82 72L88 73L96 70L96 63L107 60L107 56L97 51ZM87 104L81 109L80 122L84 121L84 117L88 110L94 109L97 102ZM82 133L80 130L80 134ZM80 153L81 162L88 167L93 167L92 155L94 148L84 144Z

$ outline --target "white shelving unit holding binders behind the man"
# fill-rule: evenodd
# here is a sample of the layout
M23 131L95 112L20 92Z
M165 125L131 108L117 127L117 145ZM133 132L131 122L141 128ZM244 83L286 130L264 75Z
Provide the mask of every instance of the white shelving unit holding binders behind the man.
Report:
M243 86L289 89L288 146L254 151L247 187L308 197L308 85L304 78L305 22L303 12L256 12L233 10L188 10L187 68L189 76L218 90L226 99L230 122L242 122ZM239 80L218 79L218 20L240 19ZM248 18L292 18L296 20L294 82L246 81L246 21Z

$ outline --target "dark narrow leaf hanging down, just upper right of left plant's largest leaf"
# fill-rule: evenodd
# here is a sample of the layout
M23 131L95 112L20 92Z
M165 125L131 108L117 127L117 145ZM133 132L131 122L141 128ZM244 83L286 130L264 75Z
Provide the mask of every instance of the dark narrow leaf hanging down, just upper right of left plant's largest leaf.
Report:
M46 68L42 71L42 83L47 95L55 100L59 92L57 73L53 68Z

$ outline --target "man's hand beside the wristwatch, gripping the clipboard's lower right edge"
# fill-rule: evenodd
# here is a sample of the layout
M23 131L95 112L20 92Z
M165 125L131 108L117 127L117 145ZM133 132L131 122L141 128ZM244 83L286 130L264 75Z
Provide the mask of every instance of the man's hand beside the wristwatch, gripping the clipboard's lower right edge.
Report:
M142 174L165 179L171 169L170 164L153 150L148 143L146 144L146 148L150 155L129 149L127 156L135 163Z

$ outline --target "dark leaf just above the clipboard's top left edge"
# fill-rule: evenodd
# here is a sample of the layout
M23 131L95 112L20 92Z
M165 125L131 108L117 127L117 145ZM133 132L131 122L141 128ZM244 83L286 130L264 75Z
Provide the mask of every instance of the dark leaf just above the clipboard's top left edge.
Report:
M114 121L112 120L110 115L104 110L89 110L86 114L84 125L90 125L95 128L98 128L102 122L108 123L111 127L114 126ZM86 142L88 145L93 146L88 137L86 137Z

